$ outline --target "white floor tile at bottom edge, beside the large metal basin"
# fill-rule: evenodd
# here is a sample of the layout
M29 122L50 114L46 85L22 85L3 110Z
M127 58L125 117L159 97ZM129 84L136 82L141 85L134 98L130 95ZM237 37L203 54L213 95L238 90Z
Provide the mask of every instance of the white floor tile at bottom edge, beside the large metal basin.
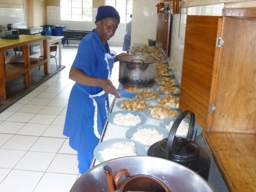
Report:
M33 192L69 192L77 175L45 173Z

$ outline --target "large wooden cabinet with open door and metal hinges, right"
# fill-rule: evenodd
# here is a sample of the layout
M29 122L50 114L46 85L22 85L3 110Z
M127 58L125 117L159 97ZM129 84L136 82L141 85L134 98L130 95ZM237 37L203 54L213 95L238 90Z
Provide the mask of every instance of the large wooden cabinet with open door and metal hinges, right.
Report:
M256 133L255 29L255 18L187 15L180 108L207 132Z

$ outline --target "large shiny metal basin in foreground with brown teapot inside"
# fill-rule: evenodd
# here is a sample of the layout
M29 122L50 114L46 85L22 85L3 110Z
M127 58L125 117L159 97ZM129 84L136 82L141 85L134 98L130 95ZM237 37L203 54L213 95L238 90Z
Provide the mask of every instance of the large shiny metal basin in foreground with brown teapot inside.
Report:
M131 176L139 174L151 175L164 182L172 192L214 191L205 179L187 167L167 159L148 156L122 157L102 162L83 174L70 191L107 192L105 166L110 166L113 174L117 174L121 169L126 169ZM154 190L147 190L147 192L151 191Z

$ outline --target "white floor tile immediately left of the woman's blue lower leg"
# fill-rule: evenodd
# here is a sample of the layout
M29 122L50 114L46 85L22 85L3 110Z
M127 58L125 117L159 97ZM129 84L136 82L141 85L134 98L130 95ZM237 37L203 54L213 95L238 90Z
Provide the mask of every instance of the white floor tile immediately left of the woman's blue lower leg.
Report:
M46 172L78 174L77 155L57 154Z

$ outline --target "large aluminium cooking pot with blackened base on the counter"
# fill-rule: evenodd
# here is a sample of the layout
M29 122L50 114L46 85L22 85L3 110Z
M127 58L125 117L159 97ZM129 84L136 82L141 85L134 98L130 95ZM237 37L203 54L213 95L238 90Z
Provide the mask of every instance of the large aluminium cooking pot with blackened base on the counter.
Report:
M157 58L144 55L119 56L119 83L125 86L151 87L155 84Z

